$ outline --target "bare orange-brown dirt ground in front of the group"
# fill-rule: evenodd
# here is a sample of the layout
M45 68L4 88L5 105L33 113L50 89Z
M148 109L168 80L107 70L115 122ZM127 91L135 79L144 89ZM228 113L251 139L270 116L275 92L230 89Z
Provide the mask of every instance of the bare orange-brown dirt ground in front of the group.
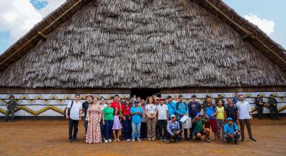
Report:
M17 120L0 122L0 155L286 155L286 118L280 121L252 120L257 142L211 143L115 142L87 144L84 122L80 122L79 142L68 142L65 120ZM246 131L246 127L245 127ZM245 134L248 140L248 133Z

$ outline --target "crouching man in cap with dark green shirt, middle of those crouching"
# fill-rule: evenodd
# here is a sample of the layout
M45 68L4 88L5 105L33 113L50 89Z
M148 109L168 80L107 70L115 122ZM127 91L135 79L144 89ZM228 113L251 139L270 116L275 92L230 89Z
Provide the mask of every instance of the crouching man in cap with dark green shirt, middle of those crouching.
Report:
M203 129L203 124L209 121L208 116L206 116L206 119L201 119L202 115L201 113L197 113L197 116L192 119L192 126L194 127L194 135L195 135L195 140L201 140L202 135L205 136L205 142L210 143L209 137L210 137L210 129L205 128Z

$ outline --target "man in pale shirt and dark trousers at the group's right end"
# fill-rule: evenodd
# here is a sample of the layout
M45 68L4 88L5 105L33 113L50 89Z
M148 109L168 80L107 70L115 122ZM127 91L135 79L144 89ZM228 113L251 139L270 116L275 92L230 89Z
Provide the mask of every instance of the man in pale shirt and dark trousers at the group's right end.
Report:
M239 102L236 103L236 107L239 110L238 116L239 116L239 123L241 125L241 142L244 141L244 124L246 124L246 128L248 129L248 135L250 136L250 141L256 142L254 138L252 137L252 131L250 126L250 120L252 120L252 111L250 108L250 104L244 100L244 96L241 94L239 95Z

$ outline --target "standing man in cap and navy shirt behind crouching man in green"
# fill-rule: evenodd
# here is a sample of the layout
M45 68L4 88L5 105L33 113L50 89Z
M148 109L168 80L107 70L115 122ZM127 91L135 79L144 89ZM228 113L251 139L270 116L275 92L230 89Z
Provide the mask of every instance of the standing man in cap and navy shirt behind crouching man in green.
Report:
M193 119L199 112L201 112L201 104L197 101L197 96L192 95L192 100L188 103L188 115ZM190 128L190 140L192 140L192 131L194 131L194 129L195 126Z

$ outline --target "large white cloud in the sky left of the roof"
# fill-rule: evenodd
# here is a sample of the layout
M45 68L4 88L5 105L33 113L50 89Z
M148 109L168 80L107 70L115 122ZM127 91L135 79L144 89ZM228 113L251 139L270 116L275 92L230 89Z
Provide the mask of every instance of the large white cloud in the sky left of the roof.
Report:
M0 1L0 32L10 32L10 43L14 43L27 33L36 23L39 23L47 14L58 8L65 0L38 0L47 1L45 8L37 10L29 0Z

